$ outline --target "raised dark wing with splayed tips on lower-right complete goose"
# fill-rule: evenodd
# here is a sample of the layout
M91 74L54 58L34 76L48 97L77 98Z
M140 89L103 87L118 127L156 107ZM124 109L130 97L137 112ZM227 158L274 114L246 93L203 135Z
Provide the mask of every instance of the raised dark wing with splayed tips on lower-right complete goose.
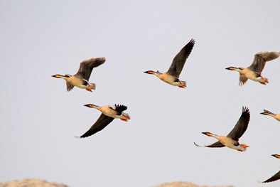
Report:
M227 137L238 141L238 139L242 137L242 135L246 131L249 124L249 120L249 109L247 107L242 107L241 117L239 118L237 124L235 124L235 127L232 129L232 131L229 134L227 134Z

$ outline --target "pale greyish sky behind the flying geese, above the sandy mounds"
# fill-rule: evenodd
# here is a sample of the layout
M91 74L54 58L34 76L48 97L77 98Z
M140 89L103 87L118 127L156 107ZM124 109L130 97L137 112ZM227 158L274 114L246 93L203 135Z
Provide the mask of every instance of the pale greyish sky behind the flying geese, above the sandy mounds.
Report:
M280 169L280 58L266 64L264 86L229 66L246 68L254 53L280 50L280 1L0 1L0 183L41 178L73 187L262 184ZM168 70L194 38L181 73L187 88L145 70ZM92 71L90 93L51 75L74 74L80 61L106 57ZM99 117L83 105L123 104L129 122L75 139ZM250 147L198 148L226 135L249 107L240 139Z

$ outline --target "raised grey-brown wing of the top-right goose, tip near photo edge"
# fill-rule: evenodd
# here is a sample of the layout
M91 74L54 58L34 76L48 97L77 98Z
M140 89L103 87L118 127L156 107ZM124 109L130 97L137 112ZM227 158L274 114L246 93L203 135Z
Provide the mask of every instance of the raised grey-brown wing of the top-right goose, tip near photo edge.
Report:
M266 52L256 53L254 55L253 63L249 66L249 69L257 73L262 73L266 61L274 60L275 58L278 57L279 57L279 52L277 51L266 51Z

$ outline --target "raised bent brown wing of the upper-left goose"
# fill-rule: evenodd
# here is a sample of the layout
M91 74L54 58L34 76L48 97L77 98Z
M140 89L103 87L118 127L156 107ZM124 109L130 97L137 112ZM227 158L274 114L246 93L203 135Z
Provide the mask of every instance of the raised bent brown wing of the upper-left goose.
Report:
M76 73L77 77L83 78L85 80L89 80L90 74L92 73L92 69L102 65L105 62L105 58L90 58L87 60L83 60L80 63L80 68Z

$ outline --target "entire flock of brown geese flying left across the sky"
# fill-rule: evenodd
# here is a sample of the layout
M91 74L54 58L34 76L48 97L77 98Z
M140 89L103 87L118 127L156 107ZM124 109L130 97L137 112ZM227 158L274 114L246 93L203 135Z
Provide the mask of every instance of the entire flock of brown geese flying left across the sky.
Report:
M173 58L173 62L171 63L171 66L166 73L160 73L159 71L155 72L153 70L147 70L144 73L156 75L156 77L158 77L163 82L168 83L169 85L181 88L187 87L187 84L184 80L179 80L179 75L183 70L185 61L187 60L188 56L193 50L194 45L195 40L191 39ZM239 72L239 86L244 85L248 79L254 80L255 82L259 82L262 85L266 85L267 83L269 83L269 81L267 78L264 78L262 76L262 70L264 70L264 66L266 65L267 61L274 60L278 58L279 55L280 52L278 51L259 52L254 55L253 63L248 68L235 68L231 66L225 69L236 70ZM80 68L75 75L56 74L52 75L52 77L64 79L66 81L67 91L72 90L72 88L76 86L80 87L81 89L85 89L89 92L92 92L92 90L95 90L95 83L89 82L92 69L97 68L99 65L102 65L105 62L105 60L105 58L90 58L87 60L83 60L80 63ZM104 107L99 107L97 105L87 104L85 106L98 109L100 112L102 112L102 114L92 125L92 127L90 127L90 129L88 129L87 132L85 132L85 134L82 134L79 138L92 136L93 134L107 127L107 125L110 124L115 118L121 119L124 122L127 122L130 119L129 114L124 113L124 110L127 109L127 107L124 105L107 105ZM260 114L269 115L280 122L280 114L274 114L266 109L264 109L264 112ZM229 134L227 134L227 136L218 136L212 134L211 132L202 132L208 137L214 137L215 139L217 139L215 143L202 147L218 148L227 146L228 148L236 149L237 151L246 151L247 147L249 146L247 146L246 144L240 144L239 138L242 137L244 132L247 130L249 119L249 108L242 107L242 114L239 117L237 124L235 124L235 127ZM200 146L195 142L194 144L195 146ZM277 159L280 159L279 154L272 154L272 156L276 157ZM280 171L278 171L278 173L276 173L274 176L271 176L271 178L267 179L266 181L263 181L263 183L269 183L272 181L277 181L279 179Z

